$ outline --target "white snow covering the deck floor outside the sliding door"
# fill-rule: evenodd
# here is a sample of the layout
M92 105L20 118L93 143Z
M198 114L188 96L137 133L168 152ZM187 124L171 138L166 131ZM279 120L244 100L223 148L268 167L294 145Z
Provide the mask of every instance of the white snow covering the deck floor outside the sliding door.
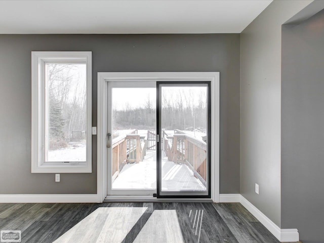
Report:
M112 183L113 189L156 189L156 152L147 150L144 161L127 164ZM168 161L162 154L162 190L206 190L188 166Z

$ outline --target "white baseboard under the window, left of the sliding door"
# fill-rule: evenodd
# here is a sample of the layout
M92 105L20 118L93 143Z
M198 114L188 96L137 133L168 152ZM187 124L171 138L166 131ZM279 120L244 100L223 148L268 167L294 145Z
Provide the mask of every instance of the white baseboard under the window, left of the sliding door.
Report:
M0 203L101 203L97 194L0 194Z

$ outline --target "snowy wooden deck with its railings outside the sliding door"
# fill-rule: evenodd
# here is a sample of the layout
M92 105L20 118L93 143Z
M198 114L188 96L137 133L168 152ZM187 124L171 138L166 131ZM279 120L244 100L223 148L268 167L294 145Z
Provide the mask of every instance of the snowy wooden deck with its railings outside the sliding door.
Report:
M207 144L181 130L163 131L162 190L206 191ZM112 189L156 188L156 131L130 130L112 141Z

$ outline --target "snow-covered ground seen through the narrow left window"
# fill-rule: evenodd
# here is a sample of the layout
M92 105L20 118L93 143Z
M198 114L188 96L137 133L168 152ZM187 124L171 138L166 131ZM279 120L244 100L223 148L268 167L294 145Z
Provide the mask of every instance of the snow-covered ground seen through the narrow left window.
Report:
M86 161L86 144L78 143L58 150L49 150L48 161Z

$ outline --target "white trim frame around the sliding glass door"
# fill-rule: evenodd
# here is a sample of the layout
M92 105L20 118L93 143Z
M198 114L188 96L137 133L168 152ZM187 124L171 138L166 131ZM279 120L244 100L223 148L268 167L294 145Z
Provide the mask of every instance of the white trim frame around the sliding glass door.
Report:
M107 82L211 81L211 199L219 202L219 72L98 72L97 194L107 196ZM130 200L132 197L129 198ZM153 198L149 198L153 199Z

